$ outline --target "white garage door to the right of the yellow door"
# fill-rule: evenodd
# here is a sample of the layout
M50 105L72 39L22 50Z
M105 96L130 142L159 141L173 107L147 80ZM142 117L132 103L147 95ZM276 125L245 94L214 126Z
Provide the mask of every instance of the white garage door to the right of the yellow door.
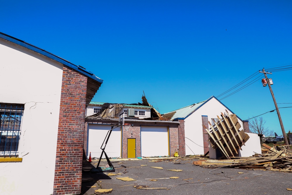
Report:
M168 127L141 126L141 156L169 155Z

